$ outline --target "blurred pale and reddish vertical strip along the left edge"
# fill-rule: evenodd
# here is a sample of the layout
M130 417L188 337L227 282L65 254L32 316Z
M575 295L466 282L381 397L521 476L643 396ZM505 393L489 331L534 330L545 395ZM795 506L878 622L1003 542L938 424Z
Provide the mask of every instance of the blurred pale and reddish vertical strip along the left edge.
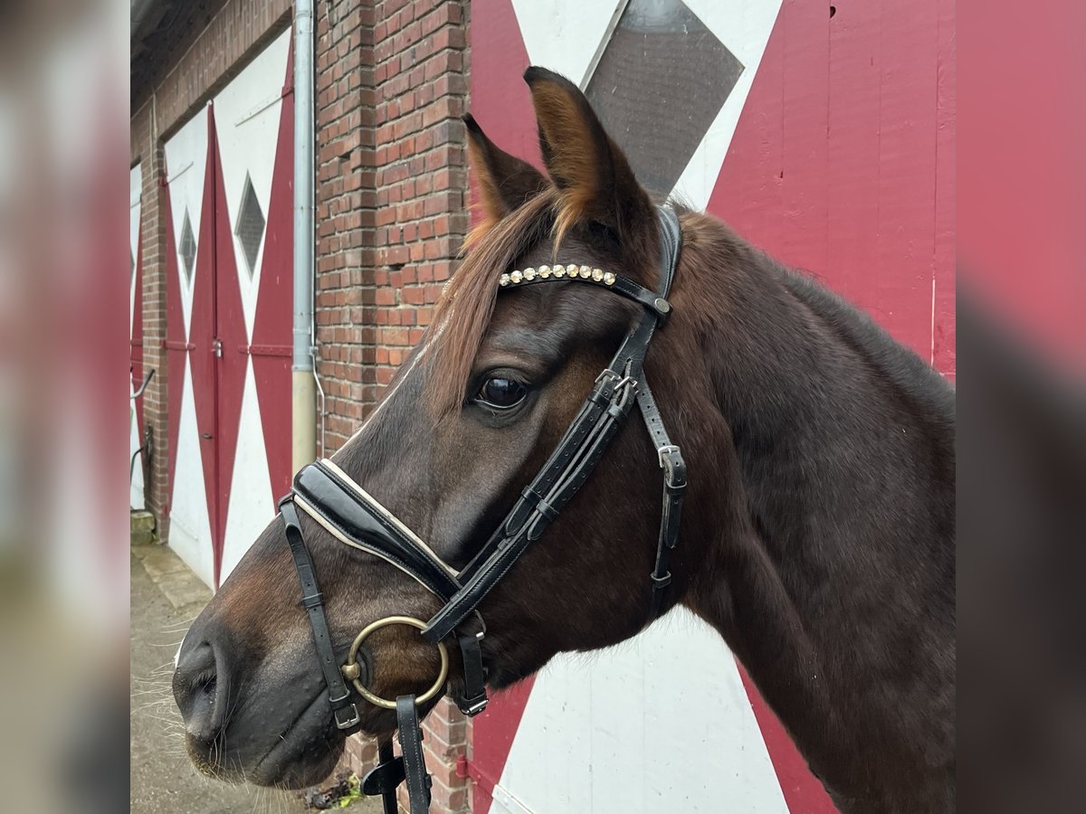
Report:
M126 810L126 13L0 9L4 811Z

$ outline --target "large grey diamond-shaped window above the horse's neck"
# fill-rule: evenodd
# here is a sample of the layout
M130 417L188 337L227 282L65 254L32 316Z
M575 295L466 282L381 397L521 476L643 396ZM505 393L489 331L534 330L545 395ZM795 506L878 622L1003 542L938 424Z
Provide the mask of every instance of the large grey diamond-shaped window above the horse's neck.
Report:
M662 196L742 73L743 63L682 0L630 0L585 94L637 180Z

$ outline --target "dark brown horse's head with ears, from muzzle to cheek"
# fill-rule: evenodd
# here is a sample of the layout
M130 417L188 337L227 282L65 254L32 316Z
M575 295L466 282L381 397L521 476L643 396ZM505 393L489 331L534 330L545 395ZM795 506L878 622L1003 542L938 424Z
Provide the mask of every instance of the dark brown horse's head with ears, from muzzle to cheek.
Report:
M550 177L502 152L466 119L481 222L421 343L377 409L321 465L321 478L379 507L371 520L425 550L438 582L442 569L455 580L493 536L642 319L644 303L606 288L619 277L634 292L657 291L661 282L657 207L622 152L571 82L539 68L526 80ZM553 284L517 285L526 276ZM681 287L671 296L673 321L681 323ZM727 429L708 404L711 387L698 356L695 332L669 326L653 345L647 378L660 393L685 382L682 410L668 403L661 410L677 437L697 433L708 449L727 438ZM660 364L668 357L686 359L682 370ZM700 396L691 393L698 381ZM547 518L546 533L526 545L475 607L485 621L481 657L491 687L532 674L558 652L629 638L661 609L653 607L649 574L658 565L664 460L640 424L616 430L576 499ZM712 478L717 463L698 467ZM295 503L305 509L304 500ZM442 608L440 588L413 578L394 558L351 545L352 535L319 512L298 517L338 665L372 623L427 620ZM670 569L662 609L683 596L690 554L677 552ZM174 691L188 749L209 773L298 787L333 767L345 730L333 722L301 598L277 518L178 654ZM477 632L477 624L472 613L457 626ZM465 664L455 647L449 651L445 689L455 694L464 689ZM420 695L441 674L441 658L419 631L387 625L358 647L353 677L380 698ZM355 728L387 737L395 727L389 709L354 700Z

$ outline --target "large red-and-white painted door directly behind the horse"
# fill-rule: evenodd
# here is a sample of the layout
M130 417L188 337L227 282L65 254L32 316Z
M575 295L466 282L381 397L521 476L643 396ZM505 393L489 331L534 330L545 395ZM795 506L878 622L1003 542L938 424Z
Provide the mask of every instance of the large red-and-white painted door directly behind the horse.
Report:
M471 109L498 145L539 164L520 77L565 74L645 186L810 270L954 377L952 0L485 0L471 36ZM496 698L468 772L476 814L833 811L683 610Z

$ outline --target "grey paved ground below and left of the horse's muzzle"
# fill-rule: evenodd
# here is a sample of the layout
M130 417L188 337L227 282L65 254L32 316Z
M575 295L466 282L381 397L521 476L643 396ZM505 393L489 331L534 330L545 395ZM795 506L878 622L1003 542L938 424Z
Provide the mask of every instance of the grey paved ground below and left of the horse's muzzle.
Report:
M166 546L131 548L130 748L134 814L296 814L298 793L229 786L197 774L185 754L169 678L185 631L211 592ZM376 800L349 809L379 811Z

